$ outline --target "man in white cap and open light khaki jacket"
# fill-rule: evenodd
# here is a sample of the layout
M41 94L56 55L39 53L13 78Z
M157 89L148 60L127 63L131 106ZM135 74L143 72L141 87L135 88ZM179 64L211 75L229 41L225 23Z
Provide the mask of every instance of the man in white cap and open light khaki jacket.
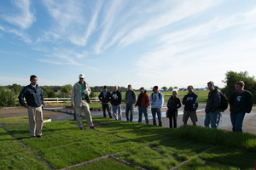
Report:
M71 105L76 111L78 126L81 130L84 130L81 111L84 111L84 116L90 128L96 128L91 120L90 115L90 86L87 82L84 82L84 74L79 75L79 82L73 85L71 94Z

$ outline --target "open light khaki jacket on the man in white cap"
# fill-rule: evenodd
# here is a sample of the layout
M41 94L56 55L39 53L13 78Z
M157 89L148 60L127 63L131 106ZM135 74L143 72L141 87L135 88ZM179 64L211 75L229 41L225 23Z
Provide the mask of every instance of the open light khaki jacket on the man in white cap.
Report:
M85 83L85 90L88 91L88 94L86 95L86 101L90 104L90 86L87 82ZM79 82L76 82L73 85L72 94L71 94L71 104L74 104L76 107L82 107L82 96L81 96L81 88L79 85Z

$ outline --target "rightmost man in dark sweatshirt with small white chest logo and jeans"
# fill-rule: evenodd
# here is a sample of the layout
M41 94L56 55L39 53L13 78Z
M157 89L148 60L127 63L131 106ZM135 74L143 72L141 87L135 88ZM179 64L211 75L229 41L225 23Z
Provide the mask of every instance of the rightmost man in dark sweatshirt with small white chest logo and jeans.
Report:
M246 113L253 108L253 95L244 89L244 82L236 82L236 91L230 97L230 119L233 132L242 133L242 122Z

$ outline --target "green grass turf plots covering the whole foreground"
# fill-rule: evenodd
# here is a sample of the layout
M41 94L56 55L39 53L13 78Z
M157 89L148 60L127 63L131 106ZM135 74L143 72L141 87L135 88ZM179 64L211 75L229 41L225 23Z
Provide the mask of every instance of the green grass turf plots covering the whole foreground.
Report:
M174 130L104 117L93 122L96 129L83 131L72 120L46 122L44 139L30 138L28 124L0 128L0 169L49 169L40 159L60 169L97 158L103 160L74 169L134 169L111 154L146 169L253 169L255 163L256 136L250 133L193 126Z

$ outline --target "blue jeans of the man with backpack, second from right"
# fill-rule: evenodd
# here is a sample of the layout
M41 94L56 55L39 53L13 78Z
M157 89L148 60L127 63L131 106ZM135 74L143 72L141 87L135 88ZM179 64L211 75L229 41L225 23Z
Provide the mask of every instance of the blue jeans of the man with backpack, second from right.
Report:
M209 127L211 123L212 128L218 128L218 123L219 123L218 119L220 119L219 114L220 114L220 111L206 113L205 127Z

